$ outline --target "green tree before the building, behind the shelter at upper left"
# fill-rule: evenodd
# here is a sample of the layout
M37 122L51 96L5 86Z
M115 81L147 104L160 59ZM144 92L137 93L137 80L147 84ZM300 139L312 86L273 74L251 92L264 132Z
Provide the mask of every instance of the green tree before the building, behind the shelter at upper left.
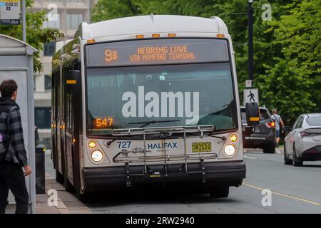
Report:
M57 38L62 38L63 33L56 28L42 28L44 21L47 20L46 12L31 12L28 11L34 5L34 0L26 0L26 43L38 50L44 49L44 43L55 41ZM7 36L12 36L22 40L22 28L19 26L4 26L0 25L0 33ZM39 53L34 53L34 71L42 71L42 63L39 61Z

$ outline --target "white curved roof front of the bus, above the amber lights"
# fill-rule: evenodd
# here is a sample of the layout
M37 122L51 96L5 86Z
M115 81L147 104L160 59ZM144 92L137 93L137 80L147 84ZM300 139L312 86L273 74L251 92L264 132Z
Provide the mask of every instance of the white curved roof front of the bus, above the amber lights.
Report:
M223 33L228 28L218 16L210 19L195 16L149 15L79 25L74 38L98 38L145 33Z

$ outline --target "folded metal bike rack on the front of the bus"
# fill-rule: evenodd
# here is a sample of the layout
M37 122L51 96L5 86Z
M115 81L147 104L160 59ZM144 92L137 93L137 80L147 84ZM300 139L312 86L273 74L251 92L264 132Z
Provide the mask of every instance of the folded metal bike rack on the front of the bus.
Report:
M165 162L165 176L167 176L167 164L168 161L184 161L184 164L180 170L185 168L185 172L188 174L192 173L201 173L202 174L202 182L206 182L205 180L205 159L215 159L218 157L217 154L202 154L202 153L188 153L187 146L186 146L186 134L193 133L195 137L196 134L200 134L199 137L203 138L204 133L211 133L215 130L213 125L190 125L190 126L177 126L177 127L158 127L158 128L125 128L125 129L114 129L112 130L113 136L129 136L129 135L143 135L143 148L133 148L132 150L121 150L118 152L117 155L113 157L113 162L116 163L125 163L126 165L126 175L127 175L127 186L131 186L131 173L129 168L129 163L144 163L144 170L143 176L148 175L148 165L147 162ZM164 155L150 155L147 156L148 152L151 150L146 150L146 135L173 135L177 133L183 133L183 140L184 140L184 154L173 154L173 155L166 155L166 150L164 150ZM139 156L135 154L143 153L143 156ZM134 154L131 156L129 154ZM120 157L123 155L122 157ZM202 170L188 172L188 160L199 160ZM136 174L137 175L137 174ZM132 175L133 176L133 175Z

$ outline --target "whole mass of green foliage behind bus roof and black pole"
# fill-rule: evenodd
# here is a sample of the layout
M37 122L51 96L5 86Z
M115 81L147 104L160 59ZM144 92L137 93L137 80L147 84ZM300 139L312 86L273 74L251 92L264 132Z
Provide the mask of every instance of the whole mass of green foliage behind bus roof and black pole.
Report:
M263 21L263 4L272 21ZM254 68L260 105L277 108L287 124L321 112L321 1L255 0ZM248 78L248 2L245 0L99 0L94 21L141 14L220 16L233 38L240 91ZM240 96L242 98L242 96Z

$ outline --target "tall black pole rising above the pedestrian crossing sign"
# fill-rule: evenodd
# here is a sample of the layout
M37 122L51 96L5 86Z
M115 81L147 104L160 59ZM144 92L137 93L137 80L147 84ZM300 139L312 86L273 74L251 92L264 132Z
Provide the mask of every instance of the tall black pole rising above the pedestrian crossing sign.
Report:
M248 4L248 79L253 80L253 8Z

